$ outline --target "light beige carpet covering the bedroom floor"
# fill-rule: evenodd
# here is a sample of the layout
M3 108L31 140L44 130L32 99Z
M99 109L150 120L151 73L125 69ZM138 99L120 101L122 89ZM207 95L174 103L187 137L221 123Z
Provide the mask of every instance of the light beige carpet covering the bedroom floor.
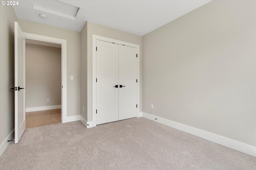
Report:
M86 129L80 121L26 129L0 169L256 169L256 158L140 117Z

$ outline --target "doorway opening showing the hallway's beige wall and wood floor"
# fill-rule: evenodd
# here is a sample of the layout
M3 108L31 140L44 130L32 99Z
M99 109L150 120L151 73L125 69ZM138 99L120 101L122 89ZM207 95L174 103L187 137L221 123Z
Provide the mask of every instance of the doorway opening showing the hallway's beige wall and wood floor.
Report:
M61 45L26 39L26 129L61 123Z

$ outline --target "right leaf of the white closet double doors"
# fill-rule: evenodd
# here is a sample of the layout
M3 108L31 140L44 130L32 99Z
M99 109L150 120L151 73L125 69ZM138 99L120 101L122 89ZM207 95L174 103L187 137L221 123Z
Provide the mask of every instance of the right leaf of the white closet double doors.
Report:
M137 60L136 48L119 45L119 120L137 116Z

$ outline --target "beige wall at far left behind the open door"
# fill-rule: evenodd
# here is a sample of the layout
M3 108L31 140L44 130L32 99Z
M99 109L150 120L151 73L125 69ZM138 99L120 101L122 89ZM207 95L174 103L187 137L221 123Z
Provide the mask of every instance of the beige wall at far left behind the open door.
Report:
M14 129L14 21L12 6L0 5L0 145ZM8 139L10 140L10 139ZM1 147L1 151L3 148Z

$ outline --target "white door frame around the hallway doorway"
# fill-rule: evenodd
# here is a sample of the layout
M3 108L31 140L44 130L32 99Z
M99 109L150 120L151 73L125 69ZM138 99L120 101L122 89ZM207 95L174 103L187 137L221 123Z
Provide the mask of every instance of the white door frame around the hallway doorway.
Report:
M61 45L61 122L67 122L67 40L44 35L32 34L24 32L26 39L56 43ZM26 95L26 94L25 94Z

